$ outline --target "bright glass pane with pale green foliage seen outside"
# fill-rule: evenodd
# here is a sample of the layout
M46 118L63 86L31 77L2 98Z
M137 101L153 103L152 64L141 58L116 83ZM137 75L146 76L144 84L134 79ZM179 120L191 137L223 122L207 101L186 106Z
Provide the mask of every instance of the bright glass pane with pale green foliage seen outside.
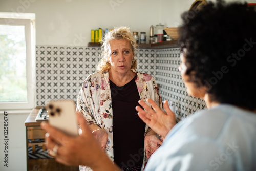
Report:
M0 102L27 101L24 26L0 25Z

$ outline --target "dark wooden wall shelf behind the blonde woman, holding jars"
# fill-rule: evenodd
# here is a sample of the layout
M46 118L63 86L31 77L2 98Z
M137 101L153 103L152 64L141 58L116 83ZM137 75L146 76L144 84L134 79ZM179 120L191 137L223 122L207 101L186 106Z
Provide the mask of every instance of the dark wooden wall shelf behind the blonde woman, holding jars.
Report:
M100 43L89 42L88 47L100 47ZM139 44L138 49L166 49L179 48L178 40L157 42L155 44Z

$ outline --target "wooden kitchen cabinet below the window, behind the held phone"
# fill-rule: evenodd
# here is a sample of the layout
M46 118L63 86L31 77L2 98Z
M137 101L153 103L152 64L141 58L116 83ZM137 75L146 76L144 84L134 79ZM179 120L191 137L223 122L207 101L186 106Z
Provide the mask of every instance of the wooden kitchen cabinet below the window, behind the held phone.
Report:
M78 171L79 170L78 166L77 167L65 166L63 164L56 162L54 158L48 158L47 149L45 146L45 131L42 130L40 127L41 122L35 121L35 118L39 109L40 108L33 109L25 121L27 170L28 171L30 170ZM38 148L40 149L39 151L38 151ZM29 157L29 156L33 156L33 157Z

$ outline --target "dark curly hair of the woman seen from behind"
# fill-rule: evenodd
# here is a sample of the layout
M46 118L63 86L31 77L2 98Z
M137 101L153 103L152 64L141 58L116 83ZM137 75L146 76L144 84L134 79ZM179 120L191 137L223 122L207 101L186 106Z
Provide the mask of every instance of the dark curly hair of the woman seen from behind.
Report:
M189 81L212 101L256 109L256 12L246 3L209 2L182 14L179 28Z

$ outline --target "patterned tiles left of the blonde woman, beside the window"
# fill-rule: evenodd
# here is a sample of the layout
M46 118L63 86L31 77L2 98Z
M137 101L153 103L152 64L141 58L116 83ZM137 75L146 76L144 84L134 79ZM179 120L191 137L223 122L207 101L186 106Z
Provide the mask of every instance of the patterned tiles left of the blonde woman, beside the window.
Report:
M100 48L37 46L36 104L73 99L86 77L96 71Z

